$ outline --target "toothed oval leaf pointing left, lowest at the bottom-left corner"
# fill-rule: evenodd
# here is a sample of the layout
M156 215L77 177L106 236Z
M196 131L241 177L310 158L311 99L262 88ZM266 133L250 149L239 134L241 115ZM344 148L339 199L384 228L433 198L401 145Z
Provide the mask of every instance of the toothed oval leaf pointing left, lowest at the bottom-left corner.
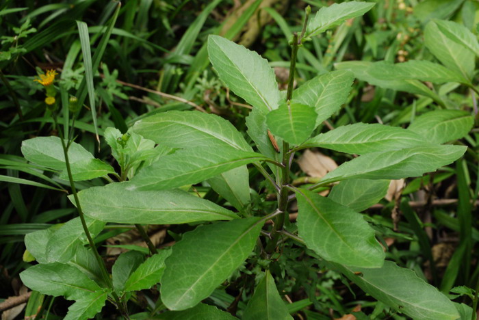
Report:
M98 284L90 280L79 269L63 263L46 263L29 267L20 274L23 283L31 290L45 295L77 300L101 291Z

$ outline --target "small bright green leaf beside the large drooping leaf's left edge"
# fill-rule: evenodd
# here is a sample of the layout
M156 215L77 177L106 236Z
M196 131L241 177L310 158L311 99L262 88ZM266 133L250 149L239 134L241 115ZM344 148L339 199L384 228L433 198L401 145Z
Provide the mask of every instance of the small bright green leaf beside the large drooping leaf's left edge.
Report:
M165 270L165 259L170 256L171 250L161 250L146 259L133 271L125 283L125 292L150 289L157 284Z

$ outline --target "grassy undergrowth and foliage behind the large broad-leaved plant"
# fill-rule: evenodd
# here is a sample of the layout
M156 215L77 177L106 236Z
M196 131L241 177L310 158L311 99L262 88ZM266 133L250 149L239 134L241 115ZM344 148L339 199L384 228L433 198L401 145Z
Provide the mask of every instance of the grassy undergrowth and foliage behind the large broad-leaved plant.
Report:
M297 86L306 83L307 88L307 81L332 70L337 70L334 71L335 75L344 77L346 82L352 82L353 79L349 79L344 70L351 70L356 77L350 95L344 101L331 102L344 103L344 107L333 114L328 122L323 120L329 114L318 118L320 126L315 129L315 134L324 133L324 140L311 144L320 144L323 156L342 163L351 156L339 151L356 153L357 150L328 150L326 144L330 139L326 135L328 129L345 124L379 122L402 127L411 124L409 129L426 135L422 131L424 124L437 123L432 132L427 132L432 143L441 144L461 138L455 144L469 148L454 165L421 178L407 179L405 185L400 182L396 185L398 187L389 189L387 198L378 199L379 204L372 206L366 203L357 210L367 209L367 220L384 239L383 245L389 248L387 258L390 261L413 270L419 278L450 295L454 302L462 303L458 309L462 308L463 319L471 319L467 315L467 312L471 312L470 308L467 309L466 305L472 306L474 297L477 301L474 289L479 278L475 245L479 239L476 222L479 161L475 88L475 56L479 50L477 40L471 41L469 34L461 34L461 30L454 29L454 25L449 23L454 21L463 25L476 37L479 5L470 0L372 2L376 5L363 18L347 20L319 37L312 37L298 51ZM125 178L133 176L138 170L138 165L144 159L142 157L146 157L144 153L149 152L146 146L148 142L144 142L143 154L135 154L136 162L133 158L129 163L114 161L121 152L115 154L114 150L112 155L110 146L130 126L146 116L167 110L206 110L229 120L239 131L246 132L245 119L250 112L248 104L253 102L235 96L213 72L208 59L207 38L211 34L219 34L257 51L274 67L276 79L283 90L287 83L290 57L287 40L292 38L293 32L301 31L307 4L315 12L331 3L312 0L216 0L208 3L187 0L127 1L122 3L118 11L118 18L111 29L112 36L103 42L103 34L117 3L93 0L61 3L4 1L0 6L0 94L3 97L0 101L1 298L26 297L25 287L18 278L18 274L32 264L31 256L25 252L24 241L38 241L31 237L29 239L27 235L53 225L63 228L68 226L65 222L77 216L64 192L69 189L65 176L62 178L53 170L36 168L22 157L22 151L23 155L28 150L31 155L36 154L35 150L28 149L27 144L22 146L23 140L38 136L53 136L49 139L55 139L58 135L51 111L44 105L42 86L33 81L41 73L40 70L53 68L61 71L58 81L62 88L79 90L82 93L78 96L80 101L88 101L88 105L96 106L92 110L81 109L74 123L68 123L68 114L61 114L58 121L76 129L75 142L79 153L81 148L88 150L94 157L109 163L102 170L115 171ZM432 19L442 20L438 22ZM83 21L86 25L79 27L75 20ZM437 38L437 35L446 32L448 38ZM86 45L81 40L85 34L89 34L92 46L90 61L83 58ZM470 50L458 49L461 47L450 40L454 37ZM103 56L101 62L95 59L96 55ZM421 60L426 64L414 65L416 62L411 60ZM432 62L435 64L432 65ZM404 67L406 64L409 64L408 70L416 70L413 79ZM89 70L94 72L89 75ZM90 96L88 87L92 90L92 85L94 95ZM231 90L235 91L234 88ZM68 95L58 98L68 99ZM274 97L271 99L274 100ZM268 106L265 105L265 108ZM443 109L442 114L435 114L436 118L423 116L428 111L440 109ZM441 119L450 119L456 128L455 133L444 136ZM268 121L274 122L275 119ZM473 122L474 127L469 131ZM107 129L109 127L116 130ZM148 131L148 127L142 126L140 130ZM348 136L348 133L345 135ZM411 135L411 140L414 138ZM133 141L135 137L130 139ZM293 143L296 142L294 139ZM177 139L178 146L172 148L192 143L188 139ZM53 147L46 144L44 148L48 148L52 161L55 161L57 152ZM170 150L160 152L166 154ZM298 150L298 156L302 152L305 151ZM133 152L130 155L133 157ZM79 159L84 160L80 156ZM319 166L324 169L324 165ZM57 169L62 170L63 167ZM293 184L315 183L315 179L318 181L317 175L310 174L313 176L307 177L307 173L308 168L294 163L291 173ZM251 207L268 211L276 203L270 186L260 183L261 175L255 167L249 169L249 176L252 190L261 191L251 191ZM88 190L94 190L88 188L105 184L101 178L90 178L92 180L76 183L77 189L85 189L82 192L86 205ZM177 183L182 185L181 181ZM229 202L235 207L241 204L241 199L235 203L235 200L218 197L211 186L214 186L213 181L209 185L197 185L193 191L216 204ZM361 198L360 191L367 190L358 189L357 198ZM333 194L336 199L341 199L341 190L333 188ZM134 198L125 196L128 197ZM228 215L229 212L222 214ZM294 223L294 214L291 219ZM71 221L75 223L75 219ZM76 223L79 222L76 220ZM103 226L98 227L98 230L103 231L95 241L109 267L119 260L119 250L142 250L138 247L142 243L140 237L132 231L133 224L138 222L132 220L130 223L109 223L104 229ZM301 223L301 220L298 221L298 224ZM148 234L159 248L171 245L184 232L194 229L194 222L169 226L174 221L152 220L151 224L160 225L148 228ZM80 247L81 241L73 241L71 246ZM318 260L305 255L303 250L292 242L285 242L282 251L276 252L271 262L263 261L259 254L253 254L230 276L227 289L213 291L207 303L242 315L247 308L253 308L246 307L248 299L261 296L261 290L267 291L274 278L281 296L287 295L291 302L287 304L287 309L295 319L341 319L353 309L357 311L354 312L357 319L406 319L385 304L376 302L356 285L351 285L339 273L330 270L339 268L339 271L350 279L355 278L359 284L359 269L344 270L339 265L319 265ZM31 254L38 256L35 252ZM50 252L49 256L65 261L71 258L64 254ZM309 254L314 256L313 252ZM138 259L138 265L143 262L141 258L131 259ZM268 263L270 272L261 277L261 267L266 267ZM387 267L393 268L392 265ZM77 269L72 268L66 272L76 272L73 270ZM367 269L361 272L365 278L369 276ZM255 278L256 275L260 276ZM380 278L380 275L373 276ZM85 286L96 285L89 281L85 278ZM114 278L113 282L119 285L122 279ZM127 282L125 286L131 291L147 289L141 283ZM255 287L261 290L255 291ZM155 287L133 295L129 303L132 314L144 319L145 312L152 314L162 310L164 306L157 299L158 295L159 291ZM73 298L77 303L82 301L82 296ZM26 299L24 301L27 302ZM28 304L21 305L16 313L9 309L8 319L14 319L16 315L48 315L49 319L62 319L69 306L70 302L62 297L34 292ZM198 310L190 311L192 314L208 312L199 310L208 308L206 305L195 308ZM116 310L107 304L102 312L104 317L109 317ZM164 317L174 319L175 316L166 314ZM187 315L177 317L187 319Z

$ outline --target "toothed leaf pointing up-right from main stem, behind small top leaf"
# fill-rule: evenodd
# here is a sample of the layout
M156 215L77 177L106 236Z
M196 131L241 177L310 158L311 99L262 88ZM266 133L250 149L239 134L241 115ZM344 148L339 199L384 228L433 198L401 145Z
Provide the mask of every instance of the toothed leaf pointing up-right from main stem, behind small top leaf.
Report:
M294 90L292 100L295 103L314 107L318 114L316 118L316 126L318 126L346 103L352 81L354 81L354 75L346 70L328 72L314 77Z

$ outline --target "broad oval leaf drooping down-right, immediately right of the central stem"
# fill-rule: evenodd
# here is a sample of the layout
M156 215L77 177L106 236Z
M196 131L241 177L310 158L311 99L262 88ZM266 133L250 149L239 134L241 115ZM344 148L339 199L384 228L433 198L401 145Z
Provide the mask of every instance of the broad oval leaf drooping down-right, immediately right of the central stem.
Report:
M327 261L374 268L385 253L362 215L312 191L296 189L298 232Z

